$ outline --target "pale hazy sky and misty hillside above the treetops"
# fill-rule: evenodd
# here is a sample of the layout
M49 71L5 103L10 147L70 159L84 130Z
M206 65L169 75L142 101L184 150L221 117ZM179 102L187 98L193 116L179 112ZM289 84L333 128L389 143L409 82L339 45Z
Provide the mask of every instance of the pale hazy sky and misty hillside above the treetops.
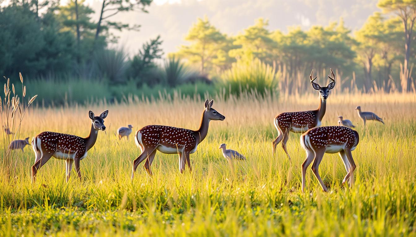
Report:
M149 13L128 12L111 20L141 24L139 32L116 32L119 44L124 44L130 54L158 34L163 39L163 50L176 51L189 28L198 17L207 16L221 32L235 35L254 24L255 19L269 20L269 29L287 31L288 27L328 25L344 19L345 25L359 29L366 19L379 11L378 0L154 0ZM100 1L87 0L99 12ZM94 16L97 19L97 16ZM97 21L97 20L95 20Z

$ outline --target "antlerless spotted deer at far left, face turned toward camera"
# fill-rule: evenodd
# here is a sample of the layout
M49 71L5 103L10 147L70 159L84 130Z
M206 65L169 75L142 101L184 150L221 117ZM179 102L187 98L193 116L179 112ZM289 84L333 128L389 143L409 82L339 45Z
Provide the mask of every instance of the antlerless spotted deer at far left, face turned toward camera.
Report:
M108 110L102 112L100 116L94 116L89 111L89 118L92 121L89 136L86 138L74 135L42 132L32 139L33 151L35 151L35 164L32 166L32 182L36 180L36 173L49 159L54 156L56 159L65 160L65 170L67 173L67 182L71 174L72 164L75 162L75 170L79 179L81 171L79 170L79 161L87 156L87 151L91 149L97 141L98 130L104 131L104 119L108 115Z

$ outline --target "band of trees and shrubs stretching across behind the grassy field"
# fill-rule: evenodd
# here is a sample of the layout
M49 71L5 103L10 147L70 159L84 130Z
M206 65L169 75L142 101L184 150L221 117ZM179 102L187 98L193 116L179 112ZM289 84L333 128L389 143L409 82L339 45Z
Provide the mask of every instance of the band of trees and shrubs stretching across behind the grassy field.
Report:
M128 11L145 14L151 4L151 0L102 0L99 17L93 19L94 11L82 0L67 5L55 0L3 2L0 75L17 78L22 72L39 82L95 80L130 89L189 83L226 87L230 80L237 81L241 90L253 77L253 71L244 68L257 68L256 80L263 80L264 74L272 81L269 87L300 93L309 86L312 69L319 80L327 81L333 68L340 90L415 91L415 1L380 0L380 12L355 32L340 19L283 33L269 29L268 20L260 18L240 34L228 35L204 17L189 22L188 44L176 52L163 52L161 37L149 39L132 56L122 45L109 47L117 43L113 30L140 29L112 17ZM246 81L240 80L238 70L246 70Z

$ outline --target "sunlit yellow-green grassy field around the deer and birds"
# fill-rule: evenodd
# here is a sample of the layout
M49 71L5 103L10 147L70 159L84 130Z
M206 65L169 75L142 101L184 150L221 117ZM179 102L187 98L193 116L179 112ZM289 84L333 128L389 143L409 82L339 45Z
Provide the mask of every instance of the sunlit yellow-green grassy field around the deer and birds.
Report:
M207 138L191 155L192 173L179 173L177 155L158 152L154 176L141 164L132 182L131 164L140 150L132 135L119 141L116 129L128 124L196 129L203 99L32 107L20 138L42 131L86 137L88 110L97 115L108 109L107 129L81 161L82 181L73 170L65 183L64 161L51 159L31 184L30 146L14 152L11 161L2 159L0 236L416 236L415 94L329 95L322 125L336 125L343 115L358 124L360 134L352 152L354 187L341 184L346 172L339 156L324 156L319 172L329 193L322 192L310 169L307 192L300 191L305 152L299 134L291 133L287 143L291 161L280 144L272 155L274 116L317 108L317 94L214 101L213 108L226 118L210 122ZM363 127L357 105L376 112L386 125ZM2 136L1 147L4 142ZM218 149L222 143L248 160L231 169Z

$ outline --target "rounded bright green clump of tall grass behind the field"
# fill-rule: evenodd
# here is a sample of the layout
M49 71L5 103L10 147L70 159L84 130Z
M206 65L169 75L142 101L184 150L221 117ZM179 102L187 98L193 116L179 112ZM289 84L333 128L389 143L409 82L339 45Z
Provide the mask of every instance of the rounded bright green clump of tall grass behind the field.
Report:
M240 93L276 93L277 75L275 68L260 59L237 61L221 74L220 86L226 95Z

